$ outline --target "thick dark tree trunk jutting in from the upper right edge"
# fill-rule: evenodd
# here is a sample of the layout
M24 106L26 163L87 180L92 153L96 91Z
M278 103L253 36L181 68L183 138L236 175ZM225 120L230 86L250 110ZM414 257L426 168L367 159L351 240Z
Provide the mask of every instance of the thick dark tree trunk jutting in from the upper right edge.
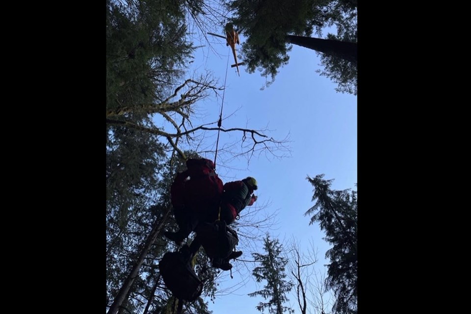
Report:
M357 64L357 43L288 35L288 43L337 56Z

